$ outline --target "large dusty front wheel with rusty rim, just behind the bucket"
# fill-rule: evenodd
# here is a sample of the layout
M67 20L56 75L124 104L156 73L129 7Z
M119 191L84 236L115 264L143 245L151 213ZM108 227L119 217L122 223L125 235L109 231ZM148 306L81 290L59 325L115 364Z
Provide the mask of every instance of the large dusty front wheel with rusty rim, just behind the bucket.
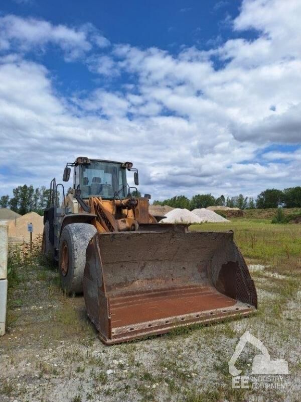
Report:
M86 248L97 233L87 223L65 226L59 245L59 271L62 289L68 294L83 292L83 275L86 265Z

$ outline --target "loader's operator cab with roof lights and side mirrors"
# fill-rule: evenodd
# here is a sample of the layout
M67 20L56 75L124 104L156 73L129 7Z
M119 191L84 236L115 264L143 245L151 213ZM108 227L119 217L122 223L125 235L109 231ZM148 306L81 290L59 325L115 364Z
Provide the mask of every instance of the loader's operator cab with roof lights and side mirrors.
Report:
M74 167L73 188L80 189L80 197L85 199L90 196L103 199L127 197L128 185L126 182L126 169L135 172L135 184L138 185L137 169L132 169L131 162L114 162L99 159L76 158L74 163L68 163L64 177L68 178L69 166ZM67 170L66 170L67 169ZM64 181L65 178L63 177Z

